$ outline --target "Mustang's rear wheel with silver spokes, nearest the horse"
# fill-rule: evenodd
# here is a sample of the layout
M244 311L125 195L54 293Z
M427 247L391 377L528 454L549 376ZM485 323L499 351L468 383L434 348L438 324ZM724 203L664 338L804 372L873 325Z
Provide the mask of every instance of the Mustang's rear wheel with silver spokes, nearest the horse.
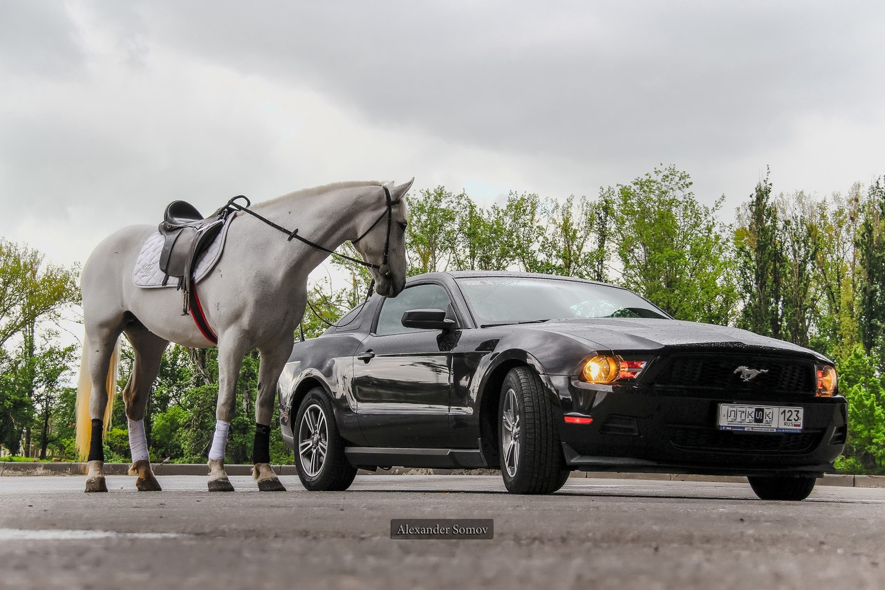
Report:
M342 492L357 477L357 468L344 455L335 410L319 387L307 392L292 428L295 466L302 485L311 492ZM323 449L325 448L325 454Z

